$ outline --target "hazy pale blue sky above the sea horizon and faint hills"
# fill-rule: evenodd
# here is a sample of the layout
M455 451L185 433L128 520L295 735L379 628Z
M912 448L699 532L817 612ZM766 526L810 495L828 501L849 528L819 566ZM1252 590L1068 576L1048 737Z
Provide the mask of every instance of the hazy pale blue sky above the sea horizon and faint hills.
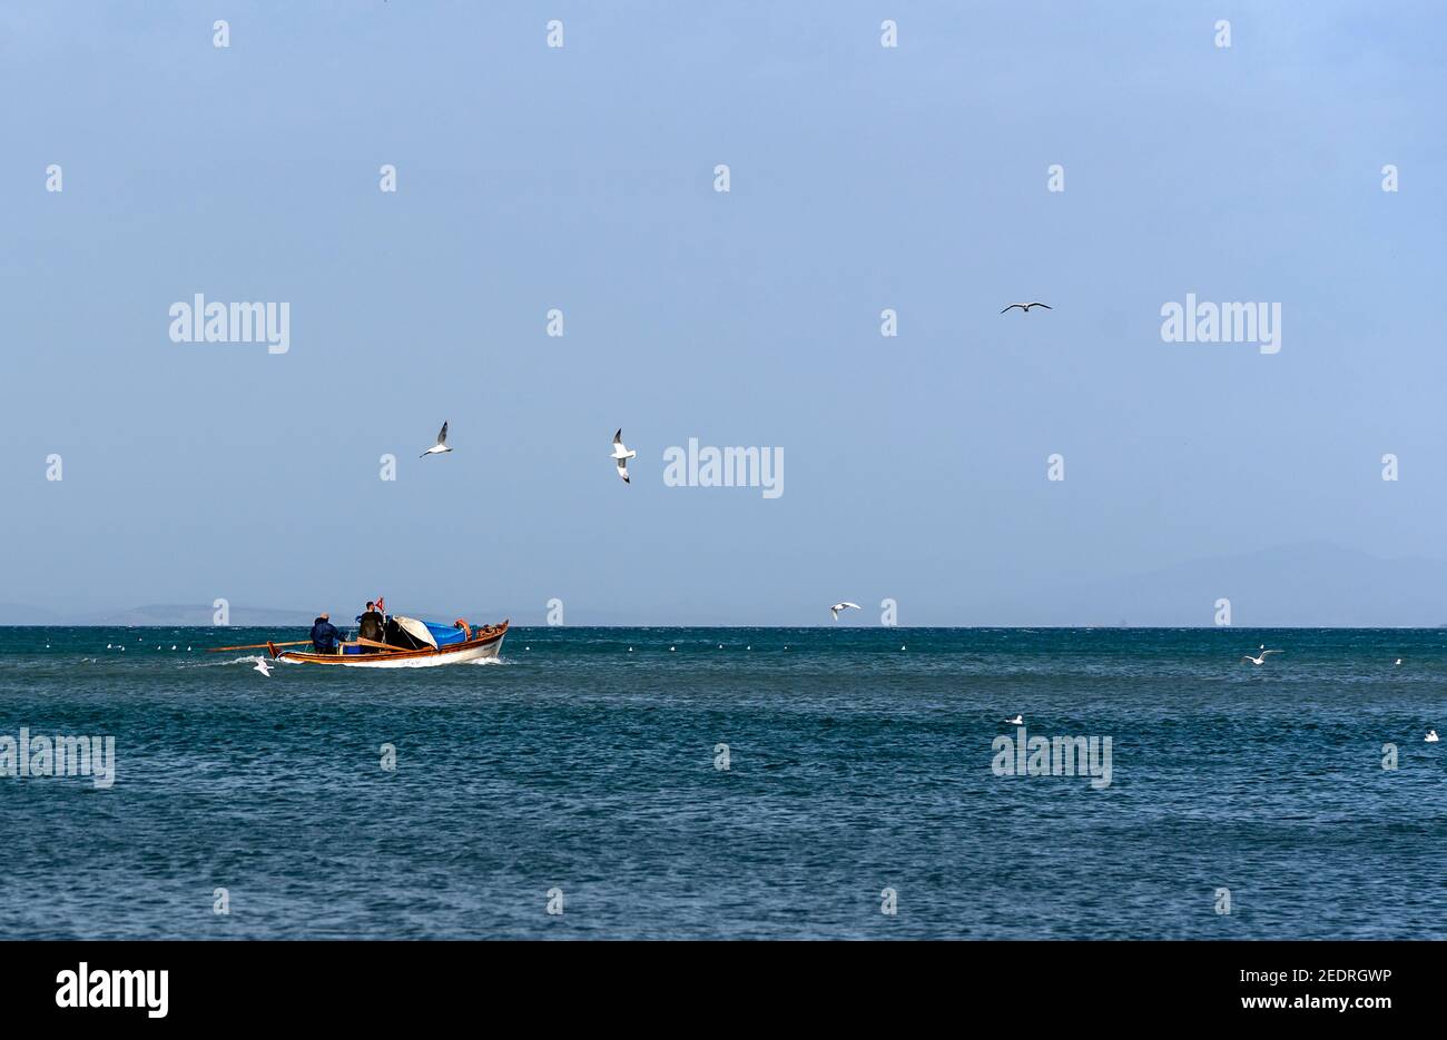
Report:
M1064 589L1189 560L1441 560L1444 30L1438 3L10 0L0 600L1062 622ZM1162 341L1188 292L1281 304L1281 351ZM289 351L174 343L195 294L288 302ZM781 448L784 493L666 486L690 437Z

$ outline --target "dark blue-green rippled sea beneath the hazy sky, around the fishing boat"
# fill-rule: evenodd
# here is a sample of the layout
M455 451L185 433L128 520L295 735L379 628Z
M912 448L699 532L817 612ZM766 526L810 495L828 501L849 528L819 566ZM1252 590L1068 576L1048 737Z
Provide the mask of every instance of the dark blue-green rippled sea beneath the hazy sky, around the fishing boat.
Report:
M0 778L0 936L1447 937L1447 631L543 628L269 678L203 652L302 636L0 629L0 745L116 761ZM1110 784L998 775L1016 713L1110 738Z

